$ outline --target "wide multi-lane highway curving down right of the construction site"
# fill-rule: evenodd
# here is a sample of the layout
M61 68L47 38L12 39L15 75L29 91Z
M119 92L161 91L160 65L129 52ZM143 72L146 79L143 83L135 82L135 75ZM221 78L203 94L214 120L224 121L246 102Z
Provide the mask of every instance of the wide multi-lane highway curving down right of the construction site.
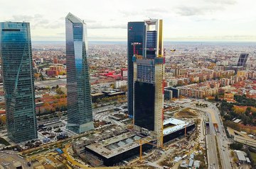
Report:
M220 163L222 165L222 168L224 169L231 169L230 165L230 153L228 151L228 144L229 140L226 137L225 130L223 127L223 123L220 118L220 112L218 108L213 104L206 100L198 100L202 103L208 104L208 107L196 107L195 103L183 103L183 107L191 107L195 110L200 110L203 112L206 112L206 115L208 115L209 118L209 128L210 128L210 134L206 135L206 146L208 151L208 168L210 169L217 169L220 168L218 165L218 156L217 156L217 148L215 143L215 136L217 138L218 142L218 150L220 153ZM213 127L213 123L217 123L219 127L218 133L215 132L215 129ZM224 160L225 159L225 160Z

